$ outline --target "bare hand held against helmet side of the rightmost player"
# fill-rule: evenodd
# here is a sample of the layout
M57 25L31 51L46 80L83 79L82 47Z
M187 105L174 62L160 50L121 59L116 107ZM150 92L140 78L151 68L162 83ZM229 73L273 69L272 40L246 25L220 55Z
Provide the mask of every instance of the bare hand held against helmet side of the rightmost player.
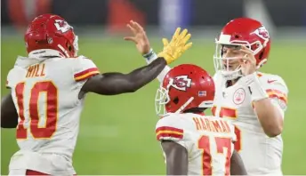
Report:
M245 54L245 56L239 60L242 74L244 76L253 74L257 69L254 53L244 45L241 46L240 52Z

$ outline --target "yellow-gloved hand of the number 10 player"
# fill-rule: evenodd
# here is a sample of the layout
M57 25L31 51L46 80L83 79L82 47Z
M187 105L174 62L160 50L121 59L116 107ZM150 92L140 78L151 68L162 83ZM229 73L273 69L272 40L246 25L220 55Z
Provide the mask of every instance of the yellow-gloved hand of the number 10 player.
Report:
M177 60L181 57L182 53L186 52L192 46L192 43L187 44L190 37L191 34L188 33L186 28L182 32L181 28L176 28L170 42L166 38L163 38L164 49L158 53L158 57L165 58L167 64Z

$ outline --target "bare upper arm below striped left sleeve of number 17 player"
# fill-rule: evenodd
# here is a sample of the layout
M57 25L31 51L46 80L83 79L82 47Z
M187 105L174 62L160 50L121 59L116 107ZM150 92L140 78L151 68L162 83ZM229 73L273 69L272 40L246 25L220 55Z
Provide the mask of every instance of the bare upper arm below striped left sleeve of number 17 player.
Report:
M171 140L162 140L162 148L165 152L166 174L188 174L188 152L186 148Z

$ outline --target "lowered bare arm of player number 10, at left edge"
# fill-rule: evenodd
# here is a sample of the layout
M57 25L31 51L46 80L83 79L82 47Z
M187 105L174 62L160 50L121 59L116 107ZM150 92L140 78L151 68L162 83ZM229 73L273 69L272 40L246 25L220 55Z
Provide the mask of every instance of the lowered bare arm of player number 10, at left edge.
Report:
M10 93L1 100L1 128L16 128L17 124L18 114Z

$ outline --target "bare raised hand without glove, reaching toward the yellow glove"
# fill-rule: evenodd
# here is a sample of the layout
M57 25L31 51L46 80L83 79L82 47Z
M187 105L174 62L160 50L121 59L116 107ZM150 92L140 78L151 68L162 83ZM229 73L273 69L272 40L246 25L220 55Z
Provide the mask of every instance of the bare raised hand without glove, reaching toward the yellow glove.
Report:
M133 36L125 36L124 39L126 41L132 41L135 43L138 52L141 52L142 55L149 53L149 39L141 25L133 20L130 20L126 26L127 28L131 29Z

